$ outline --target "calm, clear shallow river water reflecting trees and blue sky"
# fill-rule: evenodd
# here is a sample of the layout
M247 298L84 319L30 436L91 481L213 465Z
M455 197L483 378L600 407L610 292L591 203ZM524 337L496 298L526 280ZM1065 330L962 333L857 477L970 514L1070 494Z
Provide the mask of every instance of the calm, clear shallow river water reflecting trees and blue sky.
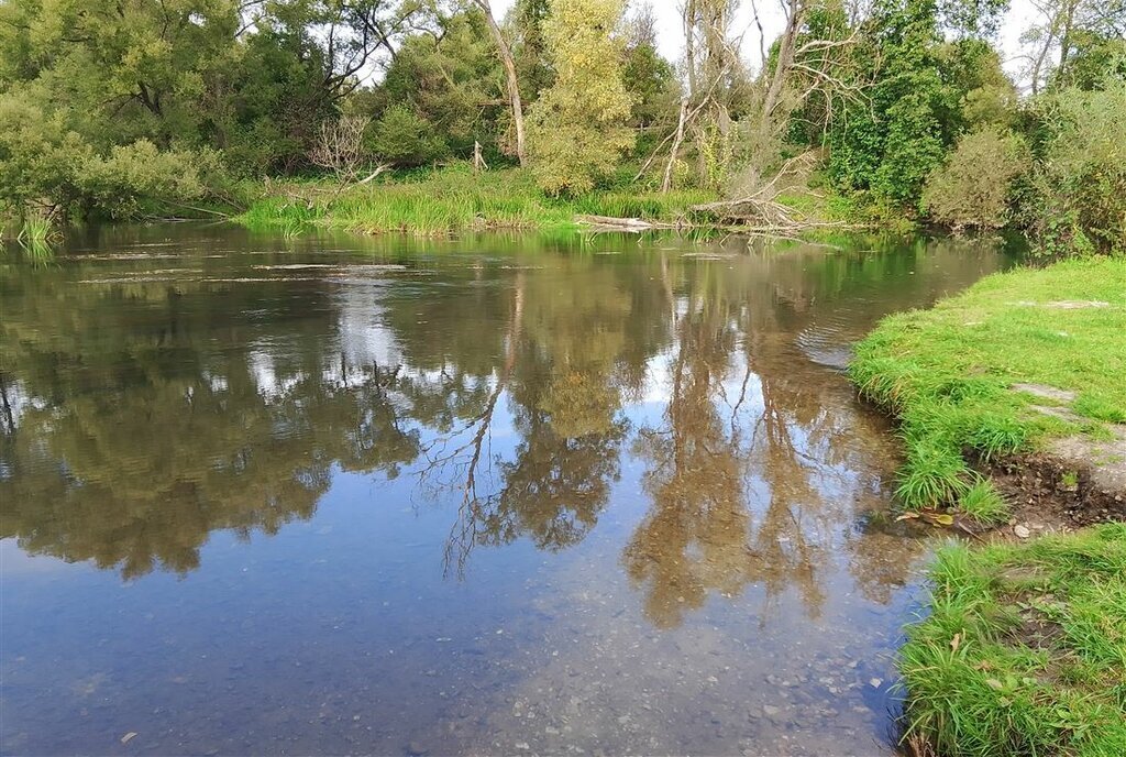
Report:
M1006 258L90 232L0 259L9 754L891 754L841 367ZM136 736L127 743L119 739Z

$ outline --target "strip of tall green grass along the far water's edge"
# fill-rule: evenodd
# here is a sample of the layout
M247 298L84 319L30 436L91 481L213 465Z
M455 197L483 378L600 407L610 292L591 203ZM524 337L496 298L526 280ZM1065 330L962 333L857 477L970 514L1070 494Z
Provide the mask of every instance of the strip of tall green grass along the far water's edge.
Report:
M310 224L359 233L435 235L490 229L575 226L575 216L640 217L674 223L714 197L703 192L601 190L579 197L545 195L515 169L474 175L464 167L391 177L338 192L327 184L275 186L238 220L257 229Z

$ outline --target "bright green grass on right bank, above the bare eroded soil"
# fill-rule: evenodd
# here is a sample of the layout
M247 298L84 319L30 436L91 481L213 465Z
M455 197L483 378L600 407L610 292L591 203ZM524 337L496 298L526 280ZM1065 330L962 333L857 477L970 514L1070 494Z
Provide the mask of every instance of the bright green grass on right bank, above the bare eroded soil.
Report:
M1061 301L1108 306L1063 309ZM1053 436L1106 435L1126 420L1126 259L1067 260L989 276L928 311L884 319L849 368L863 394L900 420L906 448L899 496L908 509L960 507L983 524L1006 510L969 456L991 460ZM1076 393L1069 422L1010 389ZM972 496L969 496L972 493Z

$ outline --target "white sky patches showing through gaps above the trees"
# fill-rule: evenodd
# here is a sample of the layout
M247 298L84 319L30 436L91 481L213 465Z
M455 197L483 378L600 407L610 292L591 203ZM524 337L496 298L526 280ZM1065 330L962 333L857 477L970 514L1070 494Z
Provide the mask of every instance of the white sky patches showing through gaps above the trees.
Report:
M637 6L640 1L633 0L631 7ZM513 2L515 0L492 0L493 14L498 19L502 18ZM681 3L679 0L652 0L651 5L653 6L653 15L656 17L658 46L661 54L670 61L679 61L685 47L685 36L680 25ZM767 44L763 46L768 46L781 33L785 26L785 16L778 0L762 0L759 2L759 12L767 38ZM1015 79L1019 79L1021 69L1021 62L1016 60L1019 54L1018 38L1025 28L1033 23L1031 12L1030 0L1012 0L998 35L1002 57L1006 60L1006 71ZM732 32L735 35L743 34L743 57L757 66L759 63L759 34L748 0L740 3Z

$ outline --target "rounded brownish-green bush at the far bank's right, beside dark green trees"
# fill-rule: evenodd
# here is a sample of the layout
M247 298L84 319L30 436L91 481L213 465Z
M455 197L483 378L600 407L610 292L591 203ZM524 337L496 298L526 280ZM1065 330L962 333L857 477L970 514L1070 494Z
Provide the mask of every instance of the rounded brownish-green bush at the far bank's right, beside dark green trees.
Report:
M967 134L927 179L923 207L951 229L999 229L1009 220L1012 184L1029 162L1028 148L1015 134L993 128Z

